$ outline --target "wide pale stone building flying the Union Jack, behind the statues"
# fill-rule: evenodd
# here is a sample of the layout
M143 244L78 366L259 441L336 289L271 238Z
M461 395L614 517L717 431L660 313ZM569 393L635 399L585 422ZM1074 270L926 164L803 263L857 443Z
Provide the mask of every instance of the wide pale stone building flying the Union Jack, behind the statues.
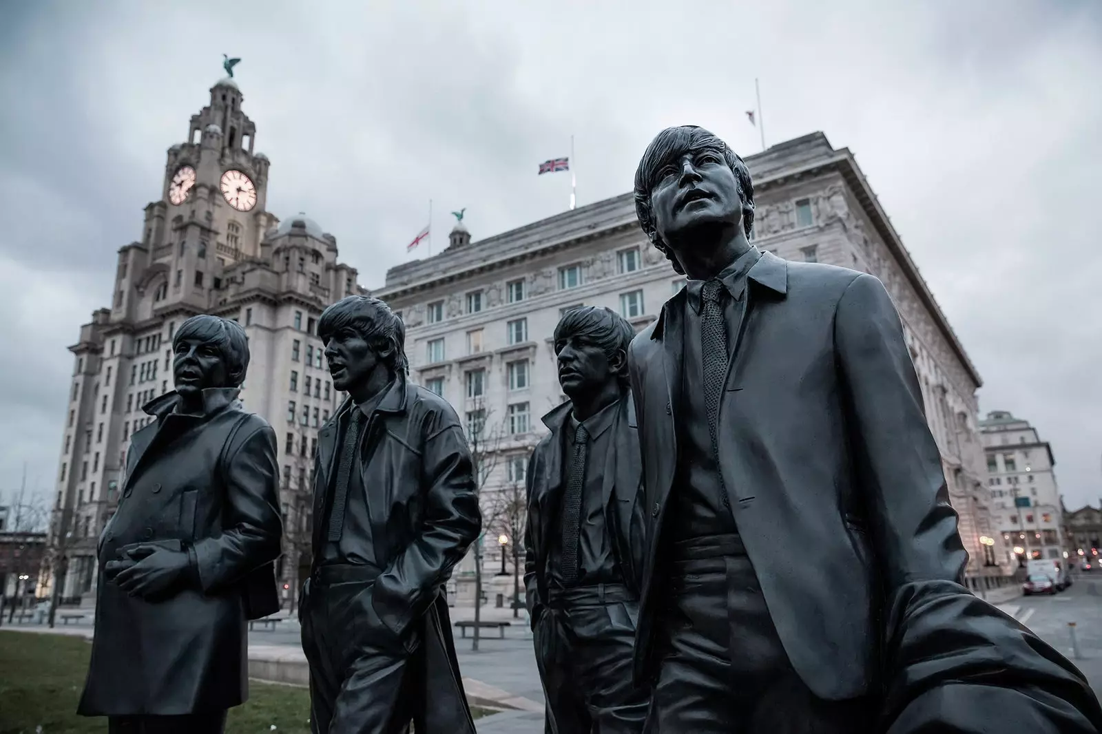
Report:
M869 272L887 287L960 514L968 574L976 589L994 585L1007 570L976 433L980 376L853 154L815 132L746 163L759 248ZM486 454L496 456L487 462L484 501L500 507L509 503L496 490L515 495L544 430L540 417L563 399L550 338L560 314L605 305L641 328L683 282L646 240L625 194L476 242L461 222L443 252L392 268L375 295L402 313L412 379L451 401L468 429L482 429ZM487 511L490 560L494 544L516 542L516 523L500 515ZM471 571L468 559L457 578ZM511 587L508 579L499 583Z

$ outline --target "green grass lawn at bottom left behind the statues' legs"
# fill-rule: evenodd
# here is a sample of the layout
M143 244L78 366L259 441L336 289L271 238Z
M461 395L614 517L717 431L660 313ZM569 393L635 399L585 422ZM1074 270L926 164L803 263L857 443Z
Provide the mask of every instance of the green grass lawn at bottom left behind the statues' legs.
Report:
M106 719L76 715L91 645L80 637L0 632L0 734L85 734L107 731ZM472 708L477 719L488 713ZM304 688L249 683L249 700L231 709L227 734L310 734Z

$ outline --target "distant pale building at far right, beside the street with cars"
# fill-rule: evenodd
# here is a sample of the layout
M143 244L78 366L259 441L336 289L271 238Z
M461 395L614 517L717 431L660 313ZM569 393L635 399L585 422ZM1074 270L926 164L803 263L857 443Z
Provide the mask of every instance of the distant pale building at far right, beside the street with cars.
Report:
M992 517L1006 544L1007 561L1065 559L1060 490L1052 447L1029 421L994 410L980 421L987 455Z

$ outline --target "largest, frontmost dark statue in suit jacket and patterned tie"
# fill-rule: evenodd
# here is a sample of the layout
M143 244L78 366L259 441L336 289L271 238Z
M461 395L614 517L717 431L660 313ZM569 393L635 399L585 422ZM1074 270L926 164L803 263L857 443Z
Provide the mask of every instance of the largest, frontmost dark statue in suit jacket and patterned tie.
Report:
M758 251L749 171L701 128L655 138L635 201L689 278L630 349L648 725L1098 732L1083 676L962 585L968 554L880 281Z

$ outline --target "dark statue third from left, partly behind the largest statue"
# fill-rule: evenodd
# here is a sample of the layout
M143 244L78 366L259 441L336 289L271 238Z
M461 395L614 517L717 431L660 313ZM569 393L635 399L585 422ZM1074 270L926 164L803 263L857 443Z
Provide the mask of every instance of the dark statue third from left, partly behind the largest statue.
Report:
M528 468L525 585L549 734L638 734L646 691L631 679L644 517L628 392L635 330L615 312L568 311L554 331L569 398Z

